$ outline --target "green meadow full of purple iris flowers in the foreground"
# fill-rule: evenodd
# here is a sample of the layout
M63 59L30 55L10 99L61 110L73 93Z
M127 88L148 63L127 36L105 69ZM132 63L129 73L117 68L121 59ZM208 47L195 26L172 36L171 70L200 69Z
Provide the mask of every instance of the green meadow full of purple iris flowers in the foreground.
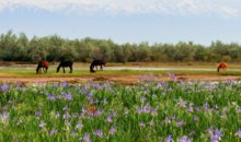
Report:
M1 84L0 141L240 141L240 83L162 78L146 74L135 86Z

